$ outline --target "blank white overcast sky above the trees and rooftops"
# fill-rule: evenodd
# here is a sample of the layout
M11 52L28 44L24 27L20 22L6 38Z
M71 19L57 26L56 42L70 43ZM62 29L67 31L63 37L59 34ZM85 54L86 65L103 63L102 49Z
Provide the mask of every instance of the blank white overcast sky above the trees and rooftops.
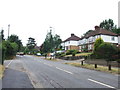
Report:
M105 19L113 19L118 25L119 0L0 0L0 30L5 38L15 34L26 45L29 37L35 38L40 46L47 32L62 40L71 33L81 37L94 30Z

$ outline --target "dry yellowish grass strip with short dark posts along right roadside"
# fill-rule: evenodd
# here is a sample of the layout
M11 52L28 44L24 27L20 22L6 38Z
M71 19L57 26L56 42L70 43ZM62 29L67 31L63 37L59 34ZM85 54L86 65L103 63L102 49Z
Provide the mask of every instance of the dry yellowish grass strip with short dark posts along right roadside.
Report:
M64 64L69 64L72 66L76 66L76 67L82 67L82 68L87 68L87 69L91 69L91 70L97 70L97 71L102 71L102 72L108 72L108 73L112 73L112 74L120 74L120 72L118 71L118 68L114 68L112 67L112 70L108 70L107 66L101 66L101 65L97 65L97 68L95 68L94 64L83 64L81 65L81 63L64 63Z

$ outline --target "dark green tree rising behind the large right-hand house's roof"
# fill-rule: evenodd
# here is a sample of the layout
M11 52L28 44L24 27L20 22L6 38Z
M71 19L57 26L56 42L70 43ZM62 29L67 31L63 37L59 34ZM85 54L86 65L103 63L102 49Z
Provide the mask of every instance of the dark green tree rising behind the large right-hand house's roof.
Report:
M116 28L116 25L114 25L114 22L112 19L103 20L99 26L103 29L110 30L110 31Z

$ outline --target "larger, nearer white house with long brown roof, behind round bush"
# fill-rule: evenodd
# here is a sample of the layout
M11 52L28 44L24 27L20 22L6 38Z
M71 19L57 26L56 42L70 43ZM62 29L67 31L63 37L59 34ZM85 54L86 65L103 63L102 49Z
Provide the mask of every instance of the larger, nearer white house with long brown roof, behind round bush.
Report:
M120 45L120 36L110 32L108 30L102 29L99 26L95 26L95 30L89 32L84 37L79 40L79 51L92 51L94 48L94 42L97 38L102 38L104 42L109 42L117 46Z

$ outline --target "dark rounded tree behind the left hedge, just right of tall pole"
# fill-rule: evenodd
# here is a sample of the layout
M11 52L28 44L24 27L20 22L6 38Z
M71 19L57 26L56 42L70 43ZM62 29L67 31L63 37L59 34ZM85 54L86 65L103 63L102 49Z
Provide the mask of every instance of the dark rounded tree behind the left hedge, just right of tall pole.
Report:
M16 43L18 45L18 51L21 50L23 47L21 40L19 40L19 37L17 35L11 35L8 39L11 43Z

